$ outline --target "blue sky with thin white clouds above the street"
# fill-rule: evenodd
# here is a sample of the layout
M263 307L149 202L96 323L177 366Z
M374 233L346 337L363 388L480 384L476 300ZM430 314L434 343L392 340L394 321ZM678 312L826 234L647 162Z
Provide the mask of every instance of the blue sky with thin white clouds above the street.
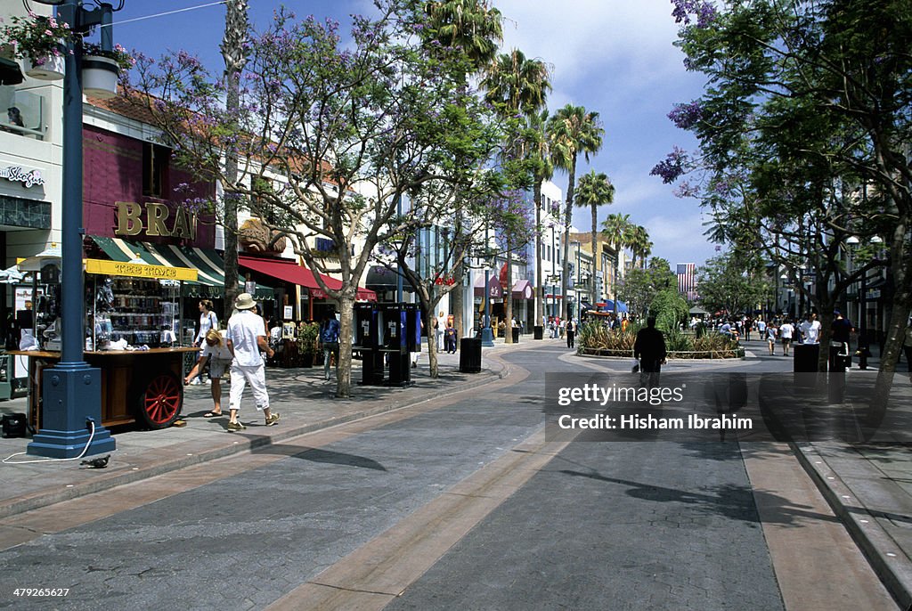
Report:
M212 0L126 0L114 16L114 40L157 56L185 49L209 67L221 69L218 51L224 6L139 21L138 17L175 11ZM263 27L281 3L251 0L254 27ZM675 145L692 150L695 141L674 127L666 115L673 104L700 96L704 78L685 71L680 51L672 47L678 26L668 0L494 0L505 17L503 51L520 48L526 57L548 63L554 90L548 98L553 112L567 103L595 110L605 125L605 145L587 164L580 159L577 176L589 169L605 172L616 187L615 203L602 209L629 214L644 225L655 246L653 255L676 263L703 261L715 254L702 235L700 207L679 199L671 185L649 170ZM368 0L289 0L300 16L333 17L343 26L352 13L369 13ZM567 176L554 182L565 192ZM587 210L577 209L574 223L588 231Z

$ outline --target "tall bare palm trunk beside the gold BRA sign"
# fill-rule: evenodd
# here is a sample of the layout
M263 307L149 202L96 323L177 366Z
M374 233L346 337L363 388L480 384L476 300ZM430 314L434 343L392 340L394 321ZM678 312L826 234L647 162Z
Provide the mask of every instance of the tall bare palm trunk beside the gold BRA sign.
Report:
M225 3L225 29L222 37L222 57L225 62L225 81L227 95L225 109L228 116L236 116L240 108L241 72L247 63L246 41L249 24L247 21L247 0L228 0ZM225 197L224 197L224 233L225 233L225 312L231 310L234 297L238 293L237 272L237 196L232 192L237 182L237 157L227 155L225 158Z

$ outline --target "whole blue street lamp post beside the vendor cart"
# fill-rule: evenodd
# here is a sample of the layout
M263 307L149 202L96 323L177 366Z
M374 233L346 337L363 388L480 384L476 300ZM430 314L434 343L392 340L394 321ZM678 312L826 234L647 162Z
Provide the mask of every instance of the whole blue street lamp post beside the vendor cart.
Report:
M41 0L36 0L41 2ZM41 2L57 5L57 17L77 35L106 25L103 48L111 46L111 5L86 10L78 0ZM63 227L61 230L61 354L44 372L41 430L28 444L29 454L77 458L116 449L109 430L101 426L101 370L83 355L85 300L82 273L82 40L67 41L63 81Z

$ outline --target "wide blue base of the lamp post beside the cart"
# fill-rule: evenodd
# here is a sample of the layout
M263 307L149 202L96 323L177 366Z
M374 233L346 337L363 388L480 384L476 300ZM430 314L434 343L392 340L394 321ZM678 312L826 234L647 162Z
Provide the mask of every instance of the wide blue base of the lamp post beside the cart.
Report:
M86 456L116 450L110 431L101 426L100 388L101 370L85 363L45 369L41 432L28 444L27 453L76 458L86 444Z

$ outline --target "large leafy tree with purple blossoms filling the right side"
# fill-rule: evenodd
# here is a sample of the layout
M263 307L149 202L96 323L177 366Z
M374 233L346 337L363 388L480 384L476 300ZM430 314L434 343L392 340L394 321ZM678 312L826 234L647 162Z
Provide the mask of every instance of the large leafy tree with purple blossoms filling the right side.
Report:
M773 261L793 277L799 264L816 268L809 296L824 345L832 295L857 277L841 269L845 239L884 240L893 295L872 403L883 413L912 306L912 5L672 4L685 63L710 84L696 107L671 117L700 140L699 155L669 158L655 173L696 175L686 191L725 222L721 237L772 244Z

